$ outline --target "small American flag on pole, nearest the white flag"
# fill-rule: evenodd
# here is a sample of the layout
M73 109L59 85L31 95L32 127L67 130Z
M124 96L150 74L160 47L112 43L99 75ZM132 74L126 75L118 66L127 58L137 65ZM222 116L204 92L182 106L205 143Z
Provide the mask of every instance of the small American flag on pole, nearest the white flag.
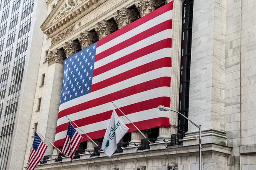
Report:
M79 147L81 143L82 136L76 131L76 129L69 123L67 136L64 140L64 144L61 150L61 153L69 156L71 158L71 162L73 160L73 154L76 152L76 149ZM70 163L71 163L70 162Z

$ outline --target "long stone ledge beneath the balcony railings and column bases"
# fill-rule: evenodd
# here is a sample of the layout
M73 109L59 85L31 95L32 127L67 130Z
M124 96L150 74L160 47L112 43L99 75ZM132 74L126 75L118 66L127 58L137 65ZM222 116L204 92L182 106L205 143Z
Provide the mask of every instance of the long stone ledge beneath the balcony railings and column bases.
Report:
M203 154L215 154L220 156L228 157L231 154L231 147L226 147L218 144L203 144L202 145ZM175 156L192 156L199 155L198 145L192 146L172 146L164 149L158 150L138 150L134 153L119 153L113 155L111 158L108 156L98 156L91 157L87 159L75 159L72 164L70 161L60 161L55 163L41 164L36 167L36 170L59 170L59 168L75 168L75 167L84 167L100 164L111 164L118 162L128 162L128 161L140 161L140 160L151 160L151 159L162 159Z

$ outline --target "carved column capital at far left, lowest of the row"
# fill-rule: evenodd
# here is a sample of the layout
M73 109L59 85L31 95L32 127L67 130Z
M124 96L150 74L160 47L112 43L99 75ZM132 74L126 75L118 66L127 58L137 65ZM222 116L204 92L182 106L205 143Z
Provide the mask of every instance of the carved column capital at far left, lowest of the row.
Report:
M62 64L65 58L66 57L64 51L57 48L53 51L50 51L46 56L48 66L55 62Z

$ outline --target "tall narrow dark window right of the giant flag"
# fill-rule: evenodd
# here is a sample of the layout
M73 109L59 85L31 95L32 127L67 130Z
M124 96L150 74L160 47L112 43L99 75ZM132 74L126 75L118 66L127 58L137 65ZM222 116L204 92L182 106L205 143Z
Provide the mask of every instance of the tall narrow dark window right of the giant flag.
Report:
M184 0L182 17L182 42L180 59L179 112L189 116L189 81L192 42L193 0ZM188 120L179 115L178 133L188 131Z

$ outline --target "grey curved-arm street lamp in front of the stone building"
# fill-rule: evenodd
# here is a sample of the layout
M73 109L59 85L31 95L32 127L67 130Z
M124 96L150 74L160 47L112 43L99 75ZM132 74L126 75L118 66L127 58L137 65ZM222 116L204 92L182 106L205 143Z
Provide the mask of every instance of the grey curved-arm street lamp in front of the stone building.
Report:
M158 109L159 109L159 111L173 111L164 106L158 106ZM173 112L180 114L181 116L183 116L185 119L187 119L189 122L191 122L193 125L195 125L199 129L199 170L202 170L202 127L201 127L201 125L198 126L197 124L192 122L189 118L187 118L180 112L177 112L177 111L173 111Z

